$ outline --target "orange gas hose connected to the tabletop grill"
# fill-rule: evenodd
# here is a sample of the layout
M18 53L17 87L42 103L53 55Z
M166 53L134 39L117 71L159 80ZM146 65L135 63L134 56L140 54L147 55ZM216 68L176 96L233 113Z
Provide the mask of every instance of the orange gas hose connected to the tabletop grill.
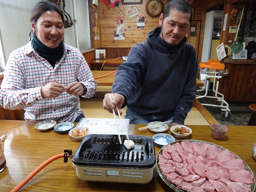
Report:
M38 172L40 172L40 170L42 170L46 165L50 164L51 162L53 162L58 158L64 158L65 156L68 157L68 154L66 153L58 154L46 160L38 168L36 168L32 173L30 173L22 182L20 182L20 184L18 184L13 190L11 190L11 192L18 192L18 190L20 190L27 182L29 182L29 180L32 179Z

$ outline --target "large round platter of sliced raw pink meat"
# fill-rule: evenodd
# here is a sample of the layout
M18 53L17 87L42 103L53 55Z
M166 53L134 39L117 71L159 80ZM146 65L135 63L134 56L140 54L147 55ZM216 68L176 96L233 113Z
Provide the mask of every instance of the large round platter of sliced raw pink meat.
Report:
M163 146L156 155L156 170L175 192L256 192L246 162L209 142L182 140Z

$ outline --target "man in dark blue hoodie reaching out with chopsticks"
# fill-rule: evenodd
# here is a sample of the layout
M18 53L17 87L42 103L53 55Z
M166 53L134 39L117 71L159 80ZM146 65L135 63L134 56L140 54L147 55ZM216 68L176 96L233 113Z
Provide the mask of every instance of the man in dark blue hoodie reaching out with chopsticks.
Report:
M131 124L168 121L184 124L196 94L198 62L195 49L186 43L192 8L186 0L168 2L147 41L133 46L128 59L118 68L110 100L104 109L112 112L127 105ZM122 114L122 110L119 110Z

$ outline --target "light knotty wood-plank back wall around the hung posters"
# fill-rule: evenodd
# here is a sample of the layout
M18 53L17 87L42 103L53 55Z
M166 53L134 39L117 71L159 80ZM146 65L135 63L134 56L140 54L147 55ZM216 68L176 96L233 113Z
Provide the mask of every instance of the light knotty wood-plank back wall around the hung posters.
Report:
M101 28L101 42L102 48L128 48L146 40L148 32L153 28L159 26L159 17L152 18L146 13L146 4L148 0L143 0L143 4L136 5L122 5L120 9L124 12L122 14L119 8L108 8L102 0L99 0L100 7L100 28ZM162 0L166 5L166 0ZM139 14L128 18L126 10L136 6ZM194 8L194 20L202 20L202 0L194 0L192 7ZM136 17L145 17L145 28L137 28ZM114 17L124 17L124 40L114 40Z

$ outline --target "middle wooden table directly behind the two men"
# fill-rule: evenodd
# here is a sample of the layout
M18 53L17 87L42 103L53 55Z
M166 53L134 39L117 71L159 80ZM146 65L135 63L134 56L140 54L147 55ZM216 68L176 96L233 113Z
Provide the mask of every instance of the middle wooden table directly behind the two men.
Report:
M100 76L104 76L108 73L110 73L111 71L92 71L92 75L94 78L96 77L100 77ZM116 72L113 72L112 74L102 77L102 78L97 78L97 85L98 86L112 86L112 84L114 83L114 79L116 76ZM200 81L199 79L196 79L196 86L197 87L202 87L204 86L204 83L202 81Z

